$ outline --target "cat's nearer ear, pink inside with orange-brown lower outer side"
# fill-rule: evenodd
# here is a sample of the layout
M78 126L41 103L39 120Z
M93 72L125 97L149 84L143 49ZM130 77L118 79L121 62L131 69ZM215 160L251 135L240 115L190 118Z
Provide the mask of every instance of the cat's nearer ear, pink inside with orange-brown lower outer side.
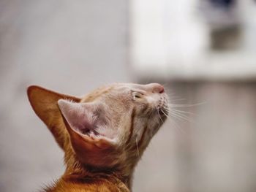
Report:
M79 160L93 166L115 163L116 131L110 127L104 104L58 101L72 147Z

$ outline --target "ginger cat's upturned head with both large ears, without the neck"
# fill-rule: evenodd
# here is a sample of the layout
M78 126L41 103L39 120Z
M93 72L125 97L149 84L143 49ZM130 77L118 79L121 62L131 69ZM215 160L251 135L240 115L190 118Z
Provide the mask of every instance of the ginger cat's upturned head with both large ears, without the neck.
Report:
M75 156L89 166L133 166L167 116L167 94L157 83L116 83L82 98L31 86L28 96L66 162Z

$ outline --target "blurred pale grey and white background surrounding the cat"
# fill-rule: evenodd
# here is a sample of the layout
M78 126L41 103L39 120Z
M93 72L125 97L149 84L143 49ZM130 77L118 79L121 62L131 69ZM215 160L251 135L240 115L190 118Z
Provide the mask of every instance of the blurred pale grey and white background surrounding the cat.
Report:
M39 191L64 172L28 85L80 96L160 82L176 113L133 191L255 192L255 80L253 0L0 0L0 191Z

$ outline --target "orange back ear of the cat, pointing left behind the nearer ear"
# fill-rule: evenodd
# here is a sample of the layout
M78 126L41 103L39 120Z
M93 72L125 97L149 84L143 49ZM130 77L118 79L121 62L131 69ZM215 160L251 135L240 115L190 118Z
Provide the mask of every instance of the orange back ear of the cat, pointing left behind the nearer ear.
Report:
M61 118L58 101L59 99L69 99L73 102L80 102L80 99L75 96L56 93L36 85L29 86L27 93L34 112L48 126L56 142L64 149L64 142L67 141L68 134Z

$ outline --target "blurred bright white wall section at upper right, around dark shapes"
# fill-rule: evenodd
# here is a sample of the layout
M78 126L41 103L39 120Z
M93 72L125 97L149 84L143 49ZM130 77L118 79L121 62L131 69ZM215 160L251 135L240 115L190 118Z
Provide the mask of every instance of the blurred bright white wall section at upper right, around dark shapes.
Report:
M237 7L234 13L241 24L240 48L217 52L210 49L212 26L208 25L206 16L212 18L215 13L220 23L230 20L221 12L200 6L199 0L132 0L133 68L143 77L175 80L255 78L256 4L251 0L240 0Z

